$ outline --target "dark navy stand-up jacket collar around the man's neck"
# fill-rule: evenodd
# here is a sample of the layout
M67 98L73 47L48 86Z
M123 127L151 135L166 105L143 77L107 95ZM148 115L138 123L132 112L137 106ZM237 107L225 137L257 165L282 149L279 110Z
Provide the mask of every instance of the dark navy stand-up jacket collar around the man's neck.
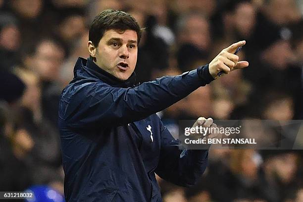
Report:
M93 62L92 59L84 59L79 57L76 63L76 66L79 66L81 62L81 67L89 73L91 76L102 80L103 82L113 86L113 87L123 87L123 88L128 88L128 87L134 87L136 83L136 73L133 72L132 75L127 79L127 80L120 80L113 76L112 74L104 71L101 69L95 62ZM75 69L76 69L75 66ZM76 76L76 75L75 75Z

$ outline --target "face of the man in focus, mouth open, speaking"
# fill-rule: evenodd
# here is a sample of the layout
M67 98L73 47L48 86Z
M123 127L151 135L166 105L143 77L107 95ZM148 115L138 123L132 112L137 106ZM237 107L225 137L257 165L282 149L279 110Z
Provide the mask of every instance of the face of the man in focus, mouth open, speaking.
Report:
M95 63L120 80L128 79L134 72L137 47L137 32L134 30L107 30L97 48L89 42L90 55L97 60Z

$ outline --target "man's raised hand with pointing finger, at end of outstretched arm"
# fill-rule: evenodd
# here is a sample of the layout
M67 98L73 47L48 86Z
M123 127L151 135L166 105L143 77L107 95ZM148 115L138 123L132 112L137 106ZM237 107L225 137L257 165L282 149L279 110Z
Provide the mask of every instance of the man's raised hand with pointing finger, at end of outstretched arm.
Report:
M228 74L234 69L242 69L249 65L248 61L238 61L239 56L235 55L234 52L239 48L245 45L245 41L237 42L231 46L223 49L210 63L209 63L209 73L216 79L218 73L223 71L225 74Z

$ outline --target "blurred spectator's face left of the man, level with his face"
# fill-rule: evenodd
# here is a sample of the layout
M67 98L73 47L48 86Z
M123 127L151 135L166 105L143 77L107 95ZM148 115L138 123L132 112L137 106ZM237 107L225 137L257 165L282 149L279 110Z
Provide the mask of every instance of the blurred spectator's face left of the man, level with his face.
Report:
M33 57L34 70L42 80L58 79L59 68L64 59L64 50L51 41L42 42Z

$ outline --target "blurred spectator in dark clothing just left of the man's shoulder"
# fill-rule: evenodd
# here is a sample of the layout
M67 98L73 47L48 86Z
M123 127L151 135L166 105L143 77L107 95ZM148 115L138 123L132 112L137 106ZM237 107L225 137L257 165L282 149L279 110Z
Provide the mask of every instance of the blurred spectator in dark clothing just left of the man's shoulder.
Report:
M41 40L29 53L28 68L38 74L42 89L42 112L53 127L57 126L57 112L60 92L59 71L65 52L62 46L52 39Z

